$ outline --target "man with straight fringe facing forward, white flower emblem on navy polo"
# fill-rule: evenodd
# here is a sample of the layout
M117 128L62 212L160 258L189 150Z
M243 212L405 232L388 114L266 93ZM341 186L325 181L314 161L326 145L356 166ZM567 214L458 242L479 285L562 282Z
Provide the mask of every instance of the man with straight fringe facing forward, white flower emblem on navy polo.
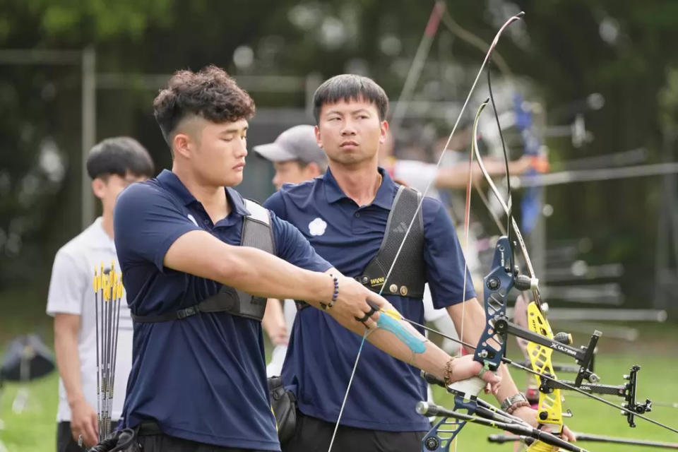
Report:
M323 177L283 186L264 203L278 218L296 225L318 254L341 273L361 279L374 290L381 288L383 279L374 273L368 278L366 268L375 256L381 256L389 214L400 193L400 186L378 167L379 146L388 131L387 109L386 93L369 78L345 74L323 83L314 95L315 131L329 169ZM453 223L441 202L433 198L424 198L421 211L423 249L403 253L396 268L406 268L405 274L416 270L417 258L423 254L425 281L415 283L420 287L429 283L434 306L446 307L458 331L463 331L463 340L477 343L484 311L475 298L470 275L464 275L464 257ZM404 232L408 223L396 222L389 234L391 230ZM386 273L388 263L382 267ZM395 282L393 276L386 281L383 293L395 292L386 299L405 318L424 323L421 295L408 297L408 287ZM297 396L299 419L295 436L283 444L283 451L328 448L359 341L317 309L299 310L283 364L283 382ZM504 380L496 395L504 401L519 391L504 367L501 376ZM430 424L417 415L415 405L426 396L426 382L416 369L366 345L334 450L420 451ZM517 397L515 403L519 404L513 406L515 414L536 425L536 412L529 404Z

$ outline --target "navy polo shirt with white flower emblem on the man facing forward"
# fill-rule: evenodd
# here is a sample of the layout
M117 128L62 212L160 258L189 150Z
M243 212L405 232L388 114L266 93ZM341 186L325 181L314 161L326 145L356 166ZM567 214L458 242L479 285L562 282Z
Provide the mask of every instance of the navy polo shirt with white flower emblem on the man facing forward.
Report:
M285 185L264 206L304 234L314 249L341 273L362 275L376 256L386 230L398 184L379 169L383 182L374 201L357 206L339 188L332 172L299 185ZM463 299L464 257L444 206L424 198L424 261L434 307ZM406 266L404 256L396 265ZM402 259L402 260L401 260ZM466 275L465 299L475 297ZM341 287L339 287L341 290ZM386 297L400 314L424 323L421 299ZM292 327L283 381L297 396L304 415L336 422L361 338L318 309L303 309ZM426 382L418 369L365 343L341 423L392 432L427 431L415 405L426 400Z

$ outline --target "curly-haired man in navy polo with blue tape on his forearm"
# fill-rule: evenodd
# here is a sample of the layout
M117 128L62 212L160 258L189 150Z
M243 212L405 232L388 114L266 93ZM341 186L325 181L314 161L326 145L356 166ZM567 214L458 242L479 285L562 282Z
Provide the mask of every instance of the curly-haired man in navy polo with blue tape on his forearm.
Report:
M370 342L439 377L480 370L471 359L451 361L407 323L381 319L375 307L392 308L385 299L337 273L295 227L231 188L242 182L254 102L227 73L179 71L153 107L172 172L129 186L114 220L134 321L123 424L138 430L145 452L280 450L263 297L306 300L358 334L386 322L399 335L379 328ZM319 273L326 270L333 275ZM494 388L499 382L491 372L483 378Z

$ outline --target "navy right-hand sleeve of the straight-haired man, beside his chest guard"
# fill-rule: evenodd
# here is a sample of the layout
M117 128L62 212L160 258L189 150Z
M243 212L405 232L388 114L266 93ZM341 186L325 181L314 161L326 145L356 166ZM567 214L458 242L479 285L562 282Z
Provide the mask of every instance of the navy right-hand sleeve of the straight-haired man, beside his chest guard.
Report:
M424 198L424 261L436 309L475 297L470 272L452 219L440 201ZM465 282L465 284L464 284Z

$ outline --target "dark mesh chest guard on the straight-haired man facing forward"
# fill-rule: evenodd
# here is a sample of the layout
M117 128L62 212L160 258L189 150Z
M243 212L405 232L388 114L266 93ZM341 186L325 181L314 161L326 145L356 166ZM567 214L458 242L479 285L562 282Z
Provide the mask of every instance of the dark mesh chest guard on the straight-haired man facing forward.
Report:
M422 209L417 210L422 194L415 189L400 186L396 198L393 199L391 213L386 221L386 232L379 247L379 252L367 264L362 275L356 279L369 290L379 292L386 280L386 273L393 265L400 244L403 243L405 233L408 231L412 217L417 215L412 222L412 229L408 234L403 249L400 251L398 261L401 265L393 268L388 276L386 287L381 295L400 295L403 297L424 297L424 220Z

